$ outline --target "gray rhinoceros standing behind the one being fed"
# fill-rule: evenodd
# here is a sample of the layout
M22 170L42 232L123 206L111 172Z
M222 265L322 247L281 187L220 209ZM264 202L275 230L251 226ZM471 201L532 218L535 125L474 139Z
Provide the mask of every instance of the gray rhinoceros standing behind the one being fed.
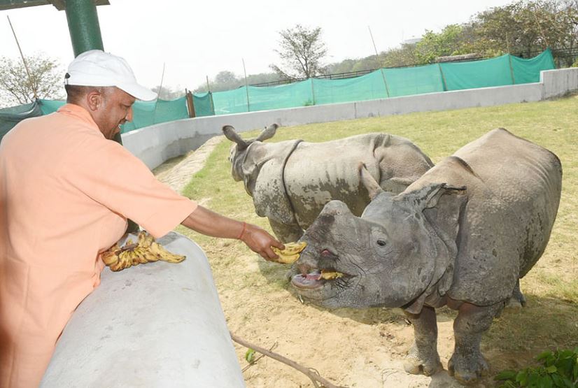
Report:
M303 230L332 199L344 201L355 215L369 203L356 167L365 163L382 189L395 194L421 177L432 161L411 141L374 133L325 143L301 140L263 143L279 126L272 124L251 140L243 140L230 125L223 133L231 147L231 173L253 197L255 212L267 217L279 240L287 243Z

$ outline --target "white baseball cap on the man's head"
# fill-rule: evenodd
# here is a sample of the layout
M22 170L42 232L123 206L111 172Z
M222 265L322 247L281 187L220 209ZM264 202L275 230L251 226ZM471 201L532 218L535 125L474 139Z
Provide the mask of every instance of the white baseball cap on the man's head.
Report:
M136 83L136 78L124 58L102 50L85 51L69 65L64 80L66 85L115 86L135 99L150 101L157 94Z

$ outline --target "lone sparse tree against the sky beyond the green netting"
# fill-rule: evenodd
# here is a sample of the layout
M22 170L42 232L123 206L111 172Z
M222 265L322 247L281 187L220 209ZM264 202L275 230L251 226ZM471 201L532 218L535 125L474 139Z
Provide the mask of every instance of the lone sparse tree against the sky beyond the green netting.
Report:
M284 69L276 64L269 67L283 78L311 78L323 74L321 59L327 54L321 41L321 27L308 29L301 24L279 32L281 48L275 50L283 61Z

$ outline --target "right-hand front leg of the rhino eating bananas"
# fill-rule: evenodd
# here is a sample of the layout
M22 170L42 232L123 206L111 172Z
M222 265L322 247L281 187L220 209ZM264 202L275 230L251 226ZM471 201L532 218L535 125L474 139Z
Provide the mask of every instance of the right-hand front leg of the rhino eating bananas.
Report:
M453 322L456 347L448 363L449 374L462 384L471 384L488 372L488 364L481 355L481 335L488 330L492 319L501 312L504 303L479 307L470 303L460 306Z

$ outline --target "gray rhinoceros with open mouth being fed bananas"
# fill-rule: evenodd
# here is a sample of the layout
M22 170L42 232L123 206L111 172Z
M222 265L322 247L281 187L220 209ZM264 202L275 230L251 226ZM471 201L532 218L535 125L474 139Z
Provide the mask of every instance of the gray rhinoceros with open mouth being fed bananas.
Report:
M458 310L449 373L463 384L477 380L488 368L482 333L548 243L560 160L495 129L396 196L362 166L360 175L371 203L361 217L340 201L327 203L302 237L307 246L292 285L329 308L403 308L415 333L409 373L442 368L435 308Z

